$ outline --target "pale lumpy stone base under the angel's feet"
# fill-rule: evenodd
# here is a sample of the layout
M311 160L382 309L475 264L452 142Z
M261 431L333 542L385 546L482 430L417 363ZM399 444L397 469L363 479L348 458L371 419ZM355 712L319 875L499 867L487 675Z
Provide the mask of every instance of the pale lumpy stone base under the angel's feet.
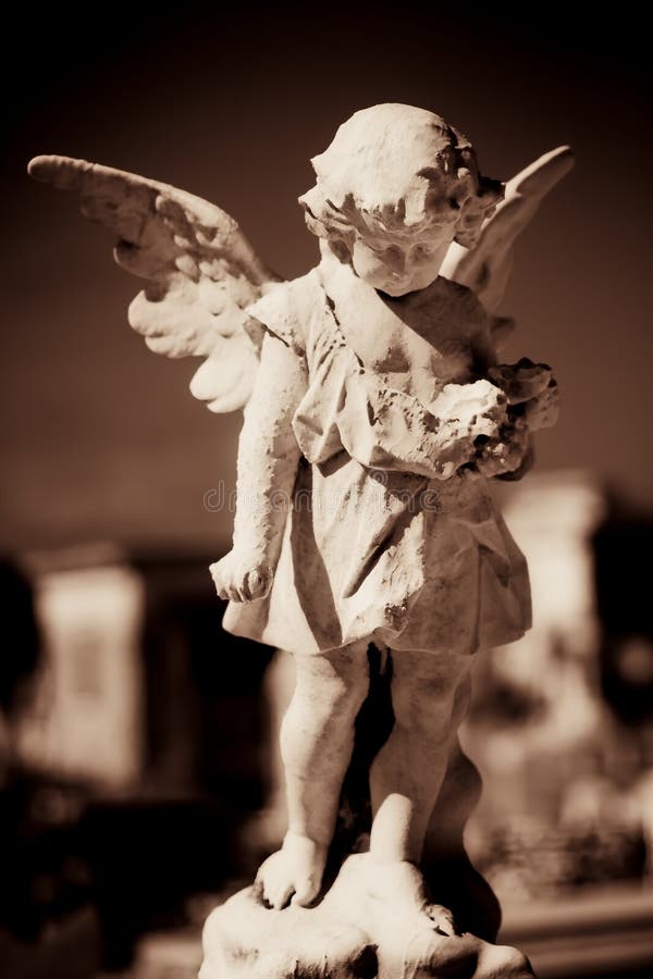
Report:
M368 854L348 857L312 908L272 910L239 891L207 919L200 979L532 979L517 949L435 931L370 871Z

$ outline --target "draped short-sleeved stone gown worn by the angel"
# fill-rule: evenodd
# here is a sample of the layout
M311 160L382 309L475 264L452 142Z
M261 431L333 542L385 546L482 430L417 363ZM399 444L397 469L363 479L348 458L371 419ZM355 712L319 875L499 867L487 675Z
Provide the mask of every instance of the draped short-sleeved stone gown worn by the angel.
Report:
M341 317L357 308L357 288L346 268L334 275L322 263L250 309L305 364L293 418L303 458L272 588L230 603L224 628L305 654L366 637L460 655L517 640L530 625L523 556L485 479L424 450L424 432L442 420L347 343ZM465 383L477 339L489 336L483 308L445 278L414 296L402 309L412 302L428 322L438 380ZM365 287L360 315L395 313Z

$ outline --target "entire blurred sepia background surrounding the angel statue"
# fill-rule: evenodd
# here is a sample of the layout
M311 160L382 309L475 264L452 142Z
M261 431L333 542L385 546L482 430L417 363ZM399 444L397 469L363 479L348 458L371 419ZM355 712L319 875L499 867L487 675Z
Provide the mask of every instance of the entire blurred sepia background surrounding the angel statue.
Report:
M576 170L523 235L503 356L552 363L558 425L497 487L535 624L479 661L468 844L539 975L653 966L653 455L643 26L568 5L113 4L16 13L1 163L0 972L186 977L199 928L283 831L269 731L287 665L221 631L239 416L126 324L138 285L27 160L60 152L236 216L285 277L296 198L356 109L432 109L506 178ZM646 168L648 171L648 168ZM223 494L223 497L220 496ZM270 669L270 664L272 668ZM4 971L2 969L4 968Z

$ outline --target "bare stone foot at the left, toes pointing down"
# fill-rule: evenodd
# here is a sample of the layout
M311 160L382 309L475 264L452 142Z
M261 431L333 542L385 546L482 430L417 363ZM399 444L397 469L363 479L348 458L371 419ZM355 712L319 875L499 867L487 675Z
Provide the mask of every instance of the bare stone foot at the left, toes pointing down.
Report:
M275 910L288 901L306 907L318 896L329 847L288 830L283 846L261 864L255 883ZM294 895L294 896L293 896Z

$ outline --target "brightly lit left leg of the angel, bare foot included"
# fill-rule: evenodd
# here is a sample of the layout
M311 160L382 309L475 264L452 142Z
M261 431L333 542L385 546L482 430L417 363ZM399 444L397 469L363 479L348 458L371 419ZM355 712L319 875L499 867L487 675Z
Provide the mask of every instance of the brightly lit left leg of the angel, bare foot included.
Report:
M281 728L288 831L257 876L274 908L291 897L310 904L320 890L354 722L368 692L367 647L365 641L320 656L295 655L295 692Z

